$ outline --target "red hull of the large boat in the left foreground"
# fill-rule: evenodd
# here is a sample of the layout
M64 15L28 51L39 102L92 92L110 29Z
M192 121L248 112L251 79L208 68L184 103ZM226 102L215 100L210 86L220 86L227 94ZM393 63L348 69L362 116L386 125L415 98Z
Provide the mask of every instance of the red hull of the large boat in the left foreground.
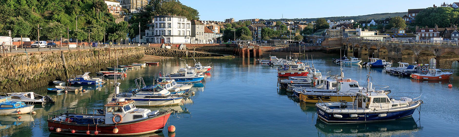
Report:
M161 132L164 126L166 125L166 122L168 121L170 114L171 113L169 112L152 119L117 124L116 127L118 128L118 133L113 133L115 124L98 124L97 131L99 133L96 136L128 136ZM67 133L80 136L83 134L86 135L86 132L88 130L91 132L90 135L94 136L94 132L96 129L95 124L90 124L88 126L88 124L82 125L68 122L60 123L60 121L48 120L48 129L51 126L54 127L54 130L50 132ZM58 127L62 129L61 132L56 132L56 128ZM72 130L75 130L75 133L72 133Z

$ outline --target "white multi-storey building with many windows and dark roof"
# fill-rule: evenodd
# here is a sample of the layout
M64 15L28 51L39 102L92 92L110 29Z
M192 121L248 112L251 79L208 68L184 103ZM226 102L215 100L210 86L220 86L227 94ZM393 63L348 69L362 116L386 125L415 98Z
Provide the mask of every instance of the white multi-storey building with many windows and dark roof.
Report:
M154 16L145 30L148 43L190 43L191 21L185 16Z

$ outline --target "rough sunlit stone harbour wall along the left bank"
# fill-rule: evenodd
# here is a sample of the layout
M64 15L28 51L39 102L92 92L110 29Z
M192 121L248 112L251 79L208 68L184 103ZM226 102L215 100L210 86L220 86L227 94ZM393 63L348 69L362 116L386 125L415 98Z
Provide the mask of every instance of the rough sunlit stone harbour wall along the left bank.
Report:
M116 65L117 58L118 64L131 64L144 55L145 47L10 54L0 57L0 90L7 93L31 90L54 80L66 81L69 76L106 70Z

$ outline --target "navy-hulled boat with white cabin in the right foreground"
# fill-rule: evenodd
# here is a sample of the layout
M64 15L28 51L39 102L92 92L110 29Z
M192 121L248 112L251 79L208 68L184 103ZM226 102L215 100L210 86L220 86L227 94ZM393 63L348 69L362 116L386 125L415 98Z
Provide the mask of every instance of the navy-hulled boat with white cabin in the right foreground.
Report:
M358 92L352 102L316 104L318 118L329 123L390 121L413 115L422 102L408 97L389 98L384 92Z

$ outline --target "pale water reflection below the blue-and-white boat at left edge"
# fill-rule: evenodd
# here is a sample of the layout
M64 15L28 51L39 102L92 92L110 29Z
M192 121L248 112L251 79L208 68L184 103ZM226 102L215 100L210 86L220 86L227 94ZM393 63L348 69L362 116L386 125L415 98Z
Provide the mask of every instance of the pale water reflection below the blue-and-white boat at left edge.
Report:
M19 115L5 115L0 116L0 131L5 129L19 126L19 125L33 125L24 122L33 122L34 117L30 114L19 114ZM13 129L14 130L14 129Z

